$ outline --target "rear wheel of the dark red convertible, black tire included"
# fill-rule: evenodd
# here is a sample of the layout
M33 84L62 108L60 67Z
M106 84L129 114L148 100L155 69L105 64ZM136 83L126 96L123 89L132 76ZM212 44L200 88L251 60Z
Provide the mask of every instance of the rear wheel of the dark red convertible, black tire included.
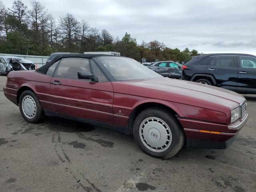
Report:
M28 111L28 109L24 109L24 111L28 111L28 114L25 114L26 112L23 111L22 106L26 105L25 103L23 104L22 102L26 102L26 98L24 98L25 96L28 96L27 99L31 100L27 102L27 106L29 109L31 109L30 111ZM36 106L36 108L34 108L34 106ZM19 108L20 108L20 113L22 115L22 117L29 123L37 123L40 122L41 120L43 120L44 118L44 111L43 108L36 96L36 94L34 92L32 92L31 90L25 90L24 92L22 92L22 94L20 95L20 100L19 100ZM34 110L33 110L34 109ZM33 112L35 111L35 112ZM32 113L32 115L30 117L27 117L30 112Z

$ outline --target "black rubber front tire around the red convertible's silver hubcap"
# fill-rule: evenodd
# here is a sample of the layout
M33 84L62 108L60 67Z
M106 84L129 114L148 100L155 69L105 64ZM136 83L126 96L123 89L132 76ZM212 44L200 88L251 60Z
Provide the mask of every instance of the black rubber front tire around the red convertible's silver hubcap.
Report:
M140 138L141 137L140 125L142 124L142 122L144 122L150 117L158 118L164 121L170 128L172 141L170 142L170 144L168 144L169 146L162 149L164 151L155 152L155 151L152 151L153 149L150 150L148 147L145 146L145 142L142 141L142 139ZM150 134L149 132L150 131L148 131L148 134ZM179 150L182 148L182 146L184 145L184 139L185 139L184 131L180 126L180 124L178 123L178 120L176 119L176 117L173 114L171 114L168 110L164 108L159 108L159 107L151 107L140 112L140 114L136 117L134 121L133 135L136 143L138 144L138 146L142 151L144 151L146 154L150 156L153 156L156 158L162 158L162 159L168 159L174 156L175 154L177 154ZM151 132L151 137L152 137L152 132ZM160 138L161 138L161 134L160 134Z

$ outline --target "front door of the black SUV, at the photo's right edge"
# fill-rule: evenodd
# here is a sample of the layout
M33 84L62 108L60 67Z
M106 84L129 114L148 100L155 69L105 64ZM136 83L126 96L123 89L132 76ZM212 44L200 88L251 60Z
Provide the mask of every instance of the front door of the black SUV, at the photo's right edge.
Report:
M237 56L238 92L256 93L256 58Z

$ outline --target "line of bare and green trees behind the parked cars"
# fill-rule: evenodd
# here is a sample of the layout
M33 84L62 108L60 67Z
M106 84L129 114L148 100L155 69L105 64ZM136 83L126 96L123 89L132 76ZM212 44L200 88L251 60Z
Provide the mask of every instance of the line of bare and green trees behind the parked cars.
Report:
M0 53L49 56L53 52L91 51L116 51L147 62L156 58L188 61L199 55L197 50L168 48L157 40L138 44L127 32L122 39L114 38L106 29L94 28L69 13L54 18L36 0L30 0L30 8L21 0L6 8L0 0Z

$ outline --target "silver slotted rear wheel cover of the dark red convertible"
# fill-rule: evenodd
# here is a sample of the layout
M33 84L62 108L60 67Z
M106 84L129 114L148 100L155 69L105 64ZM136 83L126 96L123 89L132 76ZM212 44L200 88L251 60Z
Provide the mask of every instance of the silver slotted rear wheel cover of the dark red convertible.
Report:
M26 95L22 99L22 111L23 114L32 119L36 115L36 102L30 95Z

